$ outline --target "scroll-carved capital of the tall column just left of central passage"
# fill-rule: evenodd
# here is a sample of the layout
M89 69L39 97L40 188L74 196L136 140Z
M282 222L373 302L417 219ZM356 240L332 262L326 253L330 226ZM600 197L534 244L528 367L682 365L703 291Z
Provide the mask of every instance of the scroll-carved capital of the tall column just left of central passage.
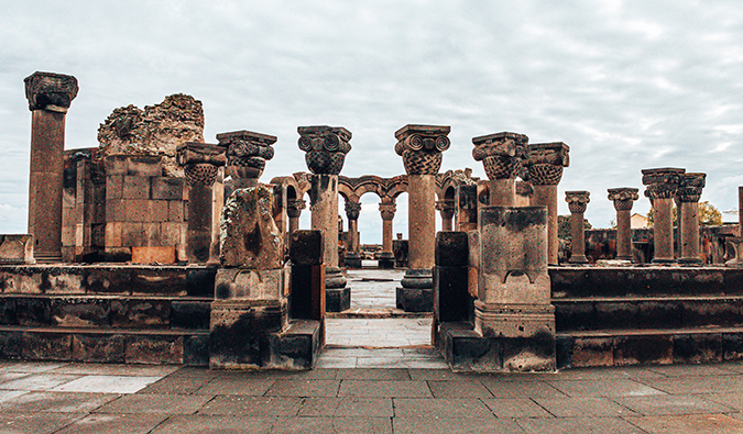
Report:
M299 126L299 149L306 152L305 162L316 175L338 175L346 154L351 151L351 132L342 126Z

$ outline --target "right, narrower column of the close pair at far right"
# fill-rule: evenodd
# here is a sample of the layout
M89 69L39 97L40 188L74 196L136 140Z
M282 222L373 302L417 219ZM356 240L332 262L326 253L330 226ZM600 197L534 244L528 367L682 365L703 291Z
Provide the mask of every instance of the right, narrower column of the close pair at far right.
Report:
M701 264L699 257L699 199L704 188L706 174L684 174L678 199L679 227L681 229L680 264Z

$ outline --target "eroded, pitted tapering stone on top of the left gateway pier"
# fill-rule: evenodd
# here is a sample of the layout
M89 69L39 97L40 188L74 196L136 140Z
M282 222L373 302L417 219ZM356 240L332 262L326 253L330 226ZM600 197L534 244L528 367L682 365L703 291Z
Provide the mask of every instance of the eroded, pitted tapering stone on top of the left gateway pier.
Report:
M282 236L273 221L273 194L264 186L236 190L220 220L223 267L276 269L283 266Z

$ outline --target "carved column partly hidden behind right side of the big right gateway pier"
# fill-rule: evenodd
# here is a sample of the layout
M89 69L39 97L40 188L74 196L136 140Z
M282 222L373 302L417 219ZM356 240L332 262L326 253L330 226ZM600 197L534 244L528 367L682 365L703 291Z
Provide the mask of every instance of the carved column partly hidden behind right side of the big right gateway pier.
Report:
M570 147L562 142L535 143L529 145L528 177L534 188L532 207L547 207L547 238L549 265L557 265L557 185L562 179L562 169L568 167Z

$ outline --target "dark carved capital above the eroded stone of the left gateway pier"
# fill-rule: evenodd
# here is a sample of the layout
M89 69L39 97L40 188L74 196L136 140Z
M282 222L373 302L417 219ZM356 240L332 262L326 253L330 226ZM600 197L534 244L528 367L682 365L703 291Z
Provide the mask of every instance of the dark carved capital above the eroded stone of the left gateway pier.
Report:
M252 131L233 131L217 134L219 146L227 149L227 171L232 178L258 179L265 162L273 158L273 135Z

